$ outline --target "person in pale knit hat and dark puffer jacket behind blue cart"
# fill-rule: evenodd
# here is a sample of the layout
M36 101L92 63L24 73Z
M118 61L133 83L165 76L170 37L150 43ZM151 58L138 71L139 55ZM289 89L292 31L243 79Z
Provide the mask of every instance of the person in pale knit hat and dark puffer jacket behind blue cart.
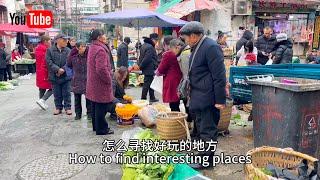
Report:
M288 64L292 63L292 42L288 39L287 34L280 33L277 35L276 53L273 59L273 64Z

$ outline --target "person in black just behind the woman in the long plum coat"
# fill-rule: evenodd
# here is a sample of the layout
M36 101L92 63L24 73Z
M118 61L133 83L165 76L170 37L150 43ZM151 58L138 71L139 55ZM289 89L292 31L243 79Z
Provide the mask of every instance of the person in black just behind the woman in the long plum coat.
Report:
M124 66L124 67L128 67L129 66L129 63L128 63L128 60L129 60L129 57L128 57L129 47L128 47L128 45L130 43L131 43L130 38L129 37L125 37L123 42L118 47L118 50L117 50L117 57L118 57L117 68L120 68L121 66Z

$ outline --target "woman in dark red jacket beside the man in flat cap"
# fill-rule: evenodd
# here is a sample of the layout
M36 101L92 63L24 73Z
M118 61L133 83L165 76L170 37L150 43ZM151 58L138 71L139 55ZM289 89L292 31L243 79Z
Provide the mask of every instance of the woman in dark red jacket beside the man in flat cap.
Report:
M170 50L166 51L156 72L157 75L163 75L163 93L162 100L169 103L171 111L180 111L180 98L177 88L182 78L182 72L177 60L177 55L182 48L182 42L178 39L170 41Z

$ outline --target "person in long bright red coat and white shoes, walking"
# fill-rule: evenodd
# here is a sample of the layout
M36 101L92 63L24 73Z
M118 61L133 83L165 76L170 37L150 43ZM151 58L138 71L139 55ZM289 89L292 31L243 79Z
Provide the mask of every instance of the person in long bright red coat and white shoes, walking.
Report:
M36 57L36 85L39 88L39 100L36 102L41 109L46 110L46 101L52 95L52 87L48 78L48 68L46 63L46 51L51 46L49 36L41 36L41 41L35 48Z

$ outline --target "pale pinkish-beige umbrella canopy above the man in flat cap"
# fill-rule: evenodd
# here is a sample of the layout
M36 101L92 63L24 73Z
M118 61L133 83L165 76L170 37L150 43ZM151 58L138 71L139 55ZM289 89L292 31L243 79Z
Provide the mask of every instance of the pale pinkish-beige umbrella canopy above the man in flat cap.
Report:
M186 0L170 8L164 14L174 18L182 18L194 11L224 9L217 0Z

